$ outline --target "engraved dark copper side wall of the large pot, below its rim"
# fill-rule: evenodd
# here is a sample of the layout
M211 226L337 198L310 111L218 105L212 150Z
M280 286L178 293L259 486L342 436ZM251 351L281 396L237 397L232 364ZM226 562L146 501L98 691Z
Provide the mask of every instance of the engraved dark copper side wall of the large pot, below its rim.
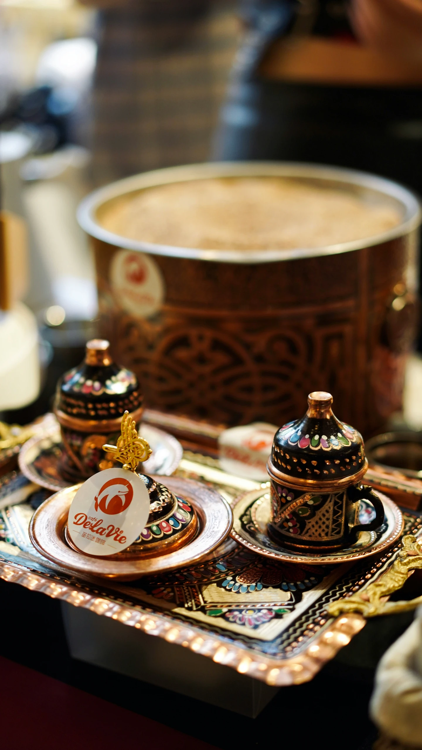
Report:
M400 330L391 318L403 317L392 307L400 284L403 309L412 308L403 284L409 238L274 263L156 255L166 299L149 317L128 314L113 295L116 248L100 240L94 248L101 333L136 373L149 407L225 425L281 425L307 393L325 389L365 435L400 407L412 316Z

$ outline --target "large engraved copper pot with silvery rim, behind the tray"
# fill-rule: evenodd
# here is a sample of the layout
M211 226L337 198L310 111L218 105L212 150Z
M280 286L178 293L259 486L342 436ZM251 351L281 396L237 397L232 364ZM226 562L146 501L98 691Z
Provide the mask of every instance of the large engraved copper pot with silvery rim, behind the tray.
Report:
M101 225L116 199L145 187L239 175L364 193L403 218L367 241L247 253L151 245ZM101 335L136 372L148 407L228 425L281 425L310 391L328 390L364 435L401 406L420 220L418 200L399 184L293 163L160 169L103 187L79 207L93 239Z

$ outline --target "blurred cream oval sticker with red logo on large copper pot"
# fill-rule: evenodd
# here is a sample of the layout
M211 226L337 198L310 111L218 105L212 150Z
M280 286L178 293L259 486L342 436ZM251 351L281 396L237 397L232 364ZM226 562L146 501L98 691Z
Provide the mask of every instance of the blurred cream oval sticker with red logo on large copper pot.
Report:
M112 257L109 278L118 305L127 313L148 318L160 310L164 281L151 256L130 250L117 251Z

